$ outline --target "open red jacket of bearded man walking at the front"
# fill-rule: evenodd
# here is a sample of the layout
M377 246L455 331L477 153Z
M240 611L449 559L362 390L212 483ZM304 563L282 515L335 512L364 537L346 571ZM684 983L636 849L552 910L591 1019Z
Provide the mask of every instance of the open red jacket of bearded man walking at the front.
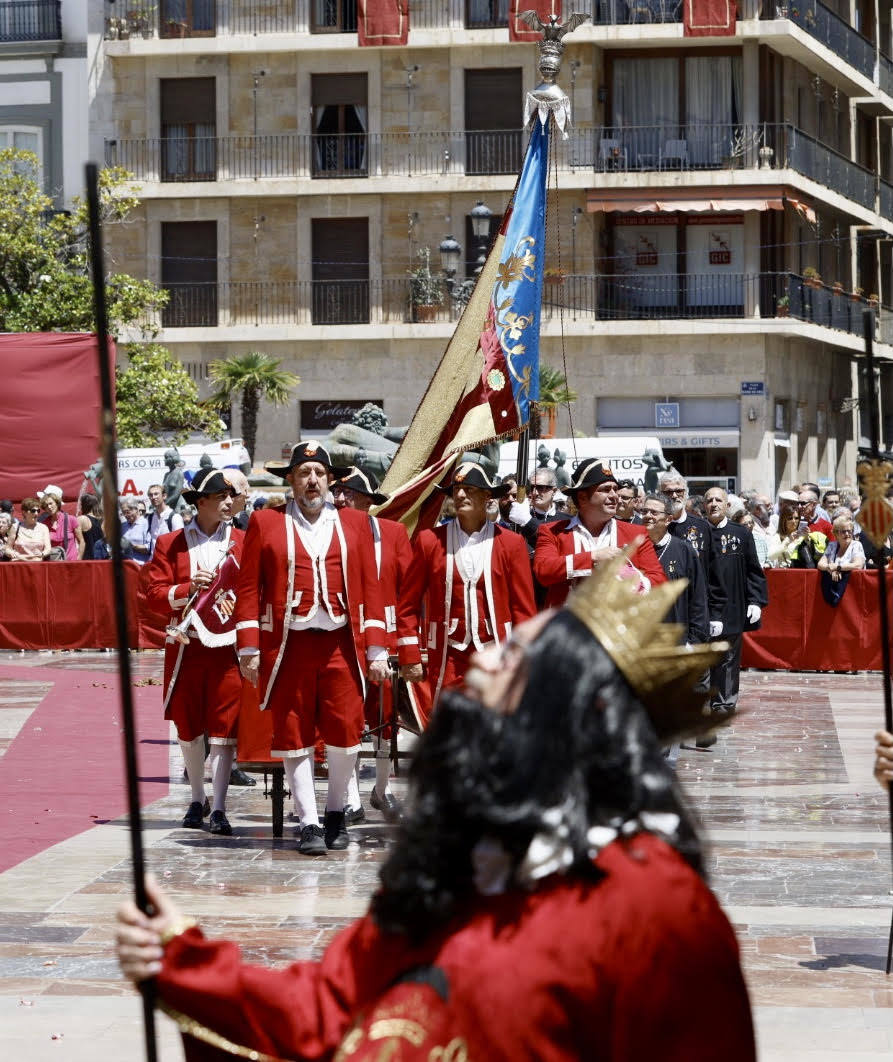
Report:
M295 558L306 558L295 546L297 535L286 507L261 509L248 521L242 550L236 600L239 649L260 650L260 707L267 699L286 648L294 600ZM372 530L365 513L342 509L332 542L341 548L357 665L365 674L365 650L384 645L384 606L375 568Z

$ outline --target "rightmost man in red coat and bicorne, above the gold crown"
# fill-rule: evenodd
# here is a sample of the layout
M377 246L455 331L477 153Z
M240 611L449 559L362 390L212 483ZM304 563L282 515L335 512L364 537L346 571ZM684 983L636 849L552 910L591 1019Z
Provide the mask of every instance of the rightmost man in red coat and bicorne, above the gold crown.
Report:
M641 593L667 581L648 535L616 518L620 495L606 464L597 459L584 461L564 491L573 498L577 516L543 525L533 556L533 573L547 587L547 607L563 604L577 580L590 576L631 543L638 545L623 577L636 580Z

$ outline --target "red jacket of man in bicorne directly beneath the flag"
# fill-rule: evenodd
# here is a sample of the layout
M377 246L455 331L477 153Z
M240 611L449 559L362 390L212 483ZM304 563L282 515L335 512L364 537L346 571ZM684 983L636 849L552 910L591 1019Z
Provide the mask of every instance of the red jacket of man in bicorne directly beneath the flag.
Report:
M515 623L536 615L533 599L533 580L527 544L514 531L494 525L493 551L480 580L486 614L481 617L488 624L488 638L501 643ZM410 619L417 620L425 610L422 637L428 646L428 670L432 675L442 673L446 658L448 636L454 621L464 629L465 617L452 615L454 594L447 596L447 580L452 587L461 585L448 550L450 524L443 524L432 531L422 531L413 542L413 556L406 583L397 603L398 626ZM400 664L417 664L422 656L418 641L400 647ZM432 690L435 695L437 690Z

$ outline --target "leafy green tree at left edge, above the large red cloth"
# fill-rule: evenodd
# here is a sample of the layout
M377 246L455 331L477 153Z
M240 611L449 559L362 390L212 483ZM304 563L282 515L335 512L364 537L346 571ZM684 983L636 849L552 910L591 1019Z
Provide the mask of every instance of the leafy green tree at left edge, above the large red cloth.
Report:
M0 331L95 331L87 241L87 204L75 199L55 212L37 181L31 152L0 151ZM105 227L123 224L139 200L124 194L125 170L103 170L100 213ZM154 332L166 291L126 273L106 276L108 325Z

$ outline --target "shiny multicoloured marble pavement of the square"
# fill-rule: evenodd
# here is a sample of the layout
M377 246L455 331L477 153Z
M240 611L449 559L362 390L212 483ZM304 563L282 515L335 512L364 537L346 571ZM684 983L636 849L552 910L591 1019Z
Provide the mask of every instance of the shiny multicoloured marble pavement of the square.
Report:
M156 653L134 661L136 676L160 673ZM102 670L113 662L0 653L0 663L18 666ZM738 932L760 1059L889 1060L890 836L887 802L871 777L879 679L748 672L743 689L746 713L712 750L684 748L677 770L709 838L712 886ZM39 696L36 685L0 684L0 771ZM272 839L262 785L230 790L234 837L179 829L188 789L175 742L170 770L170 794L145 815L147 857L207 931L239 940L251 960L287 963L319 956L364 909L388 840L379 815L367 809L346 852L310 861L293 851L288 822L286 837ZM363 781L367 791L372 780ZM110 947L114 908L130 892L127 852L123 825L111 822L0 876L4 1057L142 1057L138 1003ZM171 1025L157 1024L160 1057L182 1059Z

